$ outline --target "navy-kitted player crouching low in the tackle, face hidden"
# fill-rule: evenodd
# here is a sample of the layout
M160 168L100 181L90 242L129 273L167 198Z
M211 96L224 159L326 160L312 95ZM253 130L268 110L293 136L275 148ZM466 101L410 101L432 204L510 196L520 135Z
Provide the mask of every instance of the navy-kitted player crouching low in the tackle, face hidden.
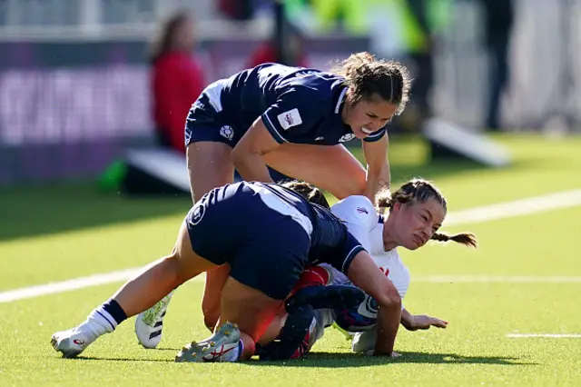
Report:
M389 319L378 322L383 335L376 345L376 354L390 355L400 298L369 253L330 210L282 185L247 182L226 184L203 195L182 222L170 255L125 283L84 323L55 332L51 343L64 357L75 357L177 286L228 264L220 322L208 339L186 345L176 362L248 359L305 266L323 262L345 273L390 312Z

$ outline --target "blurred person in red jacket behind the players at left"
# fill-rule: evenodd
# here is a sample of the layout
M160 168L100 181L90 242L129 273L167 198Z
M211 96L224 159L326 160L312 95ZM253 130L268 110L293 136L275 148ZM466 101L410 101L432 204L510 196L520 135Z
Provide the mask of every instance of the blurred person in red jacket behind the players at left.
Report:
M192 58L193 46L192 19L180 12L162 25L151 52L155 134L160 145L182 154L185 117L205 86L202 67Z

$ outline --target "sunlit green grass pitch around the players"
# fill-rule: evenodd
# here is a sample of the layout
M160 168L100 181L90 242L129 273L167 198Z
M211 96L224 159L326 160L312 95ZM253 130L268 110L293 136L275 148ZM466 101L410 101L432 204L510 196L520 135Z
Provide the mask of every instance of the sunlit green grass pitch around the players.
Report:
M421 175L448 198L449 211L581 188L581 138L502 137L516 157L493 170L475 164L428 164L424 145L394 139L394 184ZM0 292L149 263L168 253L188 198L129 199L87 184L21 187L0 193ZM185 342L207 336L202 283L176 292L159 349L141 348L133 319L79 359L60 358L53 332L84 320L120 283L0 303L0 385L579 385L581 338L507 338L508 333L581 334L576 225L581 207L443 229L477 234L478 250L429 244L402 251L411 272L404 299L412 313L447 319L446 330L401 328L396 360L350 353L332 329L310 358L293 362L176 364ZM480 282L432 283L430 275L474 275ZM493 276L505 280L487 281ZM528 283L507 281L530 277ZM414 281L414 278L421 281Z

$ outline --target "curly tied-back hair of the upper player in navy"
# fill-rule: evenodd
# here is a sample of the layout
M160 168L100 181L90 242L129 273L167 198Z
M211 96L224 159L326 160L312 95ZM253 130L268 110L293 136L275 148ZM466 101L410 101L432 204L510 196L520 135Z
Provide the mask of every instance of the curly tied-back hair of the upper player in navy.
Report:
M390 104L398 105L396 115L399 115L409 101L411 80L408 69L399 62L378 60L362 52L350 55L331 72L345 77L351 104L369 100L377 94Z

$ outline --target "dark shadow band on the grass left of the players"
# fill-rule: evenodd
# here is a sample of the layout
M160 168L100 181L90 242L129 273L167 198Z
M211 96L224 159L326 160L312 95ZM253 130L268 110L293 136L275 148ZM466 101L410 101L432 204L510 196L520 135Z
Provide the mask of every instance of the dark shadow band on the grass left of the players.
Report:
M99 193L93 183L5 189L0 191L0 203L0 241L185 216L192 206L189 195L133 198Z

